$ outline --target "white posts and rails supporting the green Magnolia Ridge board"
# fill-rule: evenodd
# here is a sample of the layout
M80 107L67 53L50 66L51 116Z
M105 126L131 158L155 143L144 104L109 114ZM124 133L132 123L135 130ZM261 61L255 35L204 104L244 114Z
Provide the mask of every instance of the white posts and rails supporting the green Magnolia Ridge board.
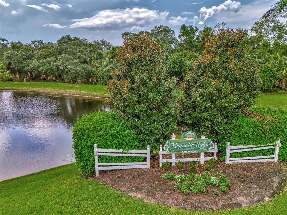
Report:
M202 139L204 139L204 136L201 136ZM175 136L172 135L172 139L175 139ZM208 153L208 152L213 152L213 157L204 157L204 153ZM175 158L175 154L176 153L170 153L170 152L166 152L166 151L162 151L162 145L159 146L159 163L160 166L162 166L162 163L164 162L171 162L173 166L175 166L175 162L191 162L191 161L200 161L202 164L204 164L204 161L208 161L211 158L212 159L217 159L216 157L216 152L217 152L217 143L214 143L214 148L211 149L210 151L207 152L191 152L191 153L200 153L200 157L199 158ZM162 155L163 154L171 154L171 159L162 159Z

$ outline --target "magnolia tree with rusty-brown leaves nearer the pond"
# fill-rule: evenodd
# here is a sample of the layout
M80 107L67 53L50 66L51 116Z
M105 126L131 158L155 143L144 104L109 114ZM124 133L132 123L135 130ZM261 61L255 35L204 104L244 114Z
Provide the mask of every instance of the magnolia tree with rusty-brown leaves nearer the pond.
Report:
M126 120L142 147L152 149L175 130L178 116L176 79L168 74L165 55L149 36L125 38L108 82L110 107Z

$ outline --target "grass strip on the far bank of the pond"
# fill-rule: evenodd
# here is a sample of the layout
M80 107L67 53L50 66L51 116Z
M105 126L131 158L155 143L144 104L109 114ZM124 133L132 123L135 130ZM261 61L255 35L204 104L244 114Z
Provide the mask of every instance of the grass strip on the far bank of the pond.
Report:
M109 97L107 86L101 85L80 85L57 82L0 82L0 89L36 90L51 93Z

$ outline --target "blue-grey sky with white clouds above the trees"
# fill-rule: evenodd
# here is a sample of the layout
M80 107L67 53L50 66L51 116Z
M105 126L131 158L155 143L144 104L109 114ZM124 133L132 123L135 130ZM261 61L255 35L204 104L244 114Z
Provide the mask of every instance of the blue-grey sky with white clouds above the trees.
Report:
M250 29L277 0L0 0L0 37L29 43L56 42L64 35L122 45L123 32L167 25Z

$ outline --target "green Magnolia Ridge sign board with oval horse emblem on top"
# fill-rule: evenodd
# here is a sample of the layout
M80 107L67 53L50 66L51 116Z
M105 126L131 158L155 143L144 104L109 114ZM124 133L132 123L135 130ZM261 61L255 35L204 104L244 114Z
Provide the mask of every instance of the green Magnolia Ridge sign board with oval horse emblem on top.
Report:
M164 150L168 153L208 152L214 148L212 140L196 138L192 131L184 132L182 139L168 140Z

